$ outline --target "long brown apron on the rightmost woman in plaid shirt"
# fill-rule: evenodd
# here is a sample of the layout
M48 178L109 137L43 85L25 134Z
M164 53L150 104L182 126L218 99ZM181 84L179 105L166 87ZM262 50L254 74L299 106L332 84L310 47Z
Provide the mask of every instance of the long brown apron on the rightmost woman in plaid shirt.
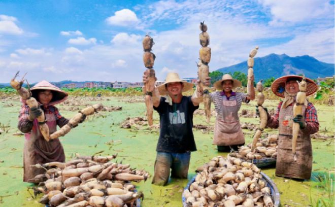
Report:
M303 106L303 114L306 107ZM312 143L310 134L299 130L296 141L296 162L292 153L293 106L281 109L279 113L279 137L277 149L276 176L310 179L312 173Z

